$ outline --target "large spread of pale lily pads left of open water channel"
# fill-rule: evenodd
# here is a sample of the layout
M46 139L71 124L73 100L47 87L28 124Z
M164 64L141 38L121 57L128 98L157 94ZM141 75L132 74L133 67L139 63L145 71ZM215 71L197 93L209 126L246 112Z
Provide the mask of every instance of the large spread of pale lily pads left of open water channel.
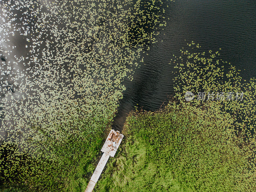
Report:
M18 146L1 161L17 164L2 178L40 172L47 180L46 170L70 170L97 149L93 143L123 97L122 82L132 80L143 47L164 25L164 10L145 2L143 9L140 0L1 2L1 148Z

